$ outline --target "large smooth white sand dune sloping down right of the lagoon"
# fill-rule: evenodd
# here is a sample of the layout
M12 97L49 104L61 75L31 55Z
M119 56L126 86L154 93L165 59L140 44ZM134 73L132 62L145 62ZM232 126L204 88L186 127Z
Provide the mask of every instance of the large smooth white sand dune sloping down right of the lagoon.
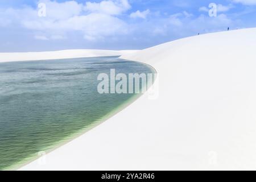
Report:
M256 169L256 29L194 36L124 59L151 64L159 98L22 170Z

